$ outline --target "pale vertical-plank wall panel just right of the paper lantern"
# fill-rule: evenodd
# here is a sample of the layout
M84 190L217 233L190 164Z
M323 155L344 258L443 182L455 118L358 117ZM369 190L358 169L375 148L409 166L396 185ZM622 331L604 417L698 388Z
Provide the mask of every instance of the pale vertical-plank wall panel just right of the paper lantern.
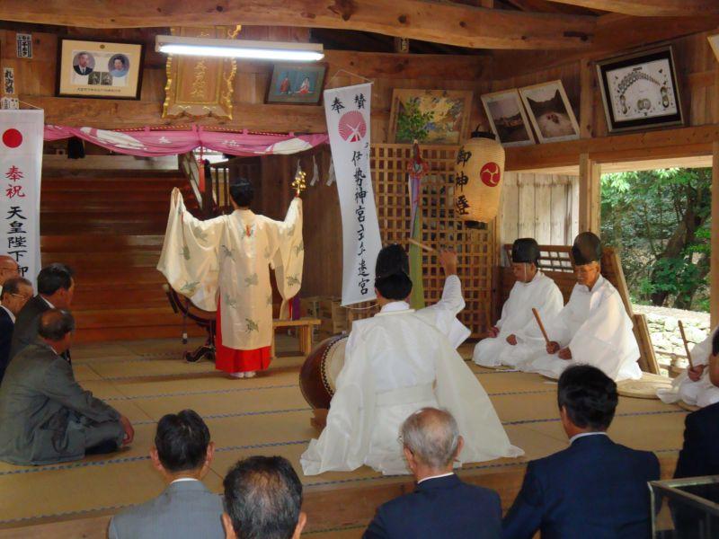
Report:
M579 178L506 172L498 220L500 245L528 237L571 245L579 233Z

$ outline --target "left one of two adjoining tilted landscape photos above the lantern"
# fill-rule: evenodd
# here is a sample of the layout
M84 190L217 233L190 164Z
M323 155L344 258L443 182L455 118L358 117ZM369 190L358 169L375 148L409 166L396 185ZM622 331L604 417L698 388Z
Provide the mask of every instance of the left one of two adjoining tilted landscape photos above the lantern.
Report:
M516 88L484 93L482 104L493 133L502 146L527 146L536 143Z

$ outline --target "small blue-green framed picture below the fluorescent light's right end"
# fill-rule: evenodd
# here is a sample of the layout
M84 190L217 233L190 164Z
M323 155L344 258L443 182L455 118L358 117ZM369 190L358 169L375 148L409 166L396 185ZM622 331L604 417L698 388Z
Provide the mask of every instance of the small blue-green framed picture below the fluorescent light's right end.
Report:
M326 71L326 64L275 64L265 102L319 104Z

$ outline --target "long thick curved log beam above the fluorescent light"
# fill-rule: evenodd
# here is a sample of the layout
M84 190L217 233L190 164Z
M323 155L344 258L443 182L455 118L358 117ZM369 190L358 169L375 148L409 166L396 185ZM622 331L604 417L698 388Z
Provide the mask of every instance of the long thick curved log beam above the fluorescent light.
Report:
M374 31L475 49L585 49L596 22L426 0L3 0L0 20L88 28L288 25Z

